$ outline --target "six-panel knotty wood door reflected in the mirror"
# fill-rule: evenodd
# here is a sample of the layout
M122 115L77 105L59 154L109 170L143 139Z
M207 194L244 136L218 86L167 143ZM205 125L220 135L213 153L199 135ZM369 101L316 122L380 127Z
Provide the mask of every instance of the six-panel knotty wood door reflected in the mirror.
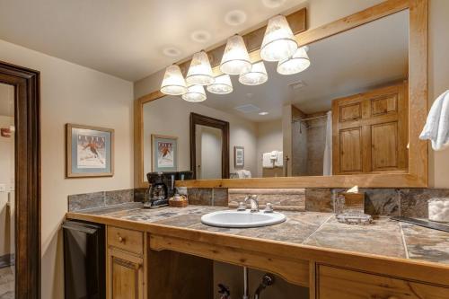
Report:
M332 101L334 174L406 171L407 84Z

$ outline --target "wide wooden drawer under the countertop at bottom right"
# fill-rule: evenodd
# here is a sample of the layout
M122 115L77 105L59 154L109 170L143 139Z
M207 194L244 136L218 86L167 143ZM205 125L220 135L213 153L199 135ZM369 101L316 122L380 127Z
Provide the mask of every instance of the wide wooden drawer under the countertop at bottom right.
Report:
M447 299L449 288L320 266L318 299Z

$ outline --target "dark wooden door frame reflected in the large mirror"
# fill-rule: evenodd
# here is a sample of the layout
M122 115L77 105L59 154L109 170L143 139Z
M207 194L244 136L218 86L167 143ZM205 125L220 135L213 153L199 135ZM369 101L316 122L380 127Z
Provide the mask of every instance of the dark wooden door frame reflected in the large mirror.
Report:
M229 179L229 122L190 113L190 170L197 179L197 130L196 126L218 128L222 131L222 179Z

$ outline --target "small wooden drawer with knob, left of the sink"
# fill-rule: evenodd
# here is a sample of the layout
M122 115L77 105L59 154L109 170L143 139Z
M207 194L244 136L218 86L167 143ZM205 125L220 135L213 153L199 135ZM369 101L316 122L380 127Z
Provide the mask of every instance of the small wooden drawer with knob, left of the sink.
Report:
M108 245L124 251L143 254L144 233L108 226Z

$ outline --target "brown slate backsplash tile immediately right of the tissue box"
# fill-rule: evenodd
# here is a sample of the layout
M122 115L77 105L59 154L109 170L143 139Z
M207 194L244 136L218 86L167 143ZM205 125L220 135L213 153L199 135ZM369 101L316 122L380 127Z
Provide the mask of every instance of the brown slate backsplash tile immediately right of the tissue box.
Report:
M360 189L365 192L365 214L400 215L399 189Z

